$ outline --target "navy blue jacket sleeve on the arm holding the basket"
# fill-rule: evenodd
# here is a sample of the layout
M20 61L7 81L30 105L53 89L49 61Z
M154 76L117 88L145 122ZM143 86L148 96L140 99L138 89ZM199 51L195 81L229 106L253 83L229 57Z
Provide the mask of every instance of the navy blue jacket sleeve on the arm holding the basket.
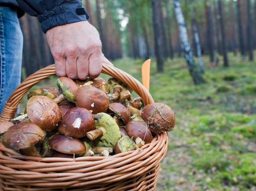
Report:
M81 0L17 0L20 8L36 16L43 32L55 26L89 19Z

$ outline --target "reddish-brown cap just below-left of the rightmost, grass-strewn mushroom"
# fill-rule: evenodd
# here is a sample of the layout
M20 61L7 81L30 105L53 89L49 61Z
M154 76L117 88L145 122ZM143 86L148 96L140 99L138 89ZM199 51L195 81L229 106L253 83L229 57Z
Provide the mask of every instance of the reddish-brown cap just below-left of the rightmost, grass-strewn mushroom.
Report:
M130 121L129 123L127 123L125 129L128 136L132 138L133 141L135 141L136 138L139 137L147 144L153 139L149 128L147 128L147 126L140 121Z

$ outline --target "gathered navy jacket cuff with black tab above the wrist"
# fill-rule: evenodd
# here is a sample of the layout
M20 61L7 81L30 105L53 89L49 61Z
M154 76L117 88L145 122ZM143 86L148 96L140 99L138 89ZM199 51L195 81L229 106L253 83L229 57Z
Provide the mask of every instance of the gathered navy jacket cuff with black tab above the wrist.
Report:
M86 21L89 15L82 6L81 0L66 1L62 5L56 5L42 14L37 15L44 33L49 29L68 23Z

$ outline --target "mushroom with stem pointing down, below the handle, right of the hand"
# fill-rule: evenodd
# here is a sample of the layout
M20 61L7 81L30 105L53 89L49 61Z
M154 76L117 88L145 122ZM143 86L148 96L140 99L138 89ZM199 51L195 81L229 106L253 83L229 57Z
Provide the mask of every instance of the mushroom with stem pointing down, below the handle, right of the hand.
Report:
M122 91L125 91L128 89L130 92L132 92L132 89L129 86L127 86L127 84L119 81L116 78L109 78L107 83L109 85L109 92L110 92L109 99L113 102L119 101L120 93Z

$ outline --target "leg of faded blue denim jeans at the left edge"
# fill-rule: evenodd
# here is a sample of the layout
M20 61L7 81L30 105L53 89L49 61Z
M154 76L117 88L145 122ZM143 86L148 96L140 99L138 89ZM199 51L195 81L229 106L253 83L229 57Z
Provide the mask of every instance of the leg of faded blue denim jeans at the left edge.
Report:
M0 112L20 84L23 36L14 7L0 6Z

